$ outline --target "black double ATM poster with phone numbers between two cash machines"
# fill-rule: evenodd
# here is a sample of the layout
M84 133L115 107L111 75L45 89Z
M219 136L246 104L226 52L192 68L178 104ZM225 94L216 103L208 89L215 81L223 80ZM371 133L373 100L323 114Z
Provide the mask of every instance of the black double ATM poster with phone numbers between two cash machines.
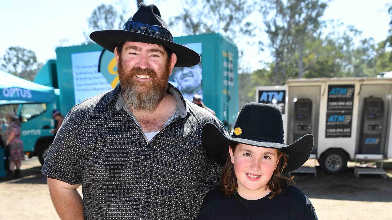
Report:
M328 85L325 137L351 137L354 85Z

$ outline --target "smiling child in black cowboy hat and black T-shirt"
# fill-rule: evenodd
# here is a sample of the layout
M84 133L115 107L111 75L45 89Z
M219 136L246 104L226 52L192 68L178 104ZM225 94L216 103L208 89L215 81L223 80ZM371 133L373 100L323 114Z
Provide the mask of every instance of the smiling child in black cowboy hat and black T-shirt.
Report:
M309 199L283 177L306 162L313 148L307 134L283 142L281 112L272 105L248 103L230 137L207 123L201 132L207 155L224 166L220 186L210 191L198 220L317 220Z

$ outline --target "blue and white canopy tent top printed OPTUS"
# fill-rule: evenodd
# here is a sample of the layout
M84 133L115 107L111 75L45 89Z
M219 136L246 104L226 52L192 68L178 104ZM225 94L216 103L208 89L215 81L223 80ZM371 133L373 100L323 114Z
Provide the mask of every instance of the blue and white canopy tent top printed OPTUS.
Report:
M54 88L33 83L0 70L0 105L52 103Z

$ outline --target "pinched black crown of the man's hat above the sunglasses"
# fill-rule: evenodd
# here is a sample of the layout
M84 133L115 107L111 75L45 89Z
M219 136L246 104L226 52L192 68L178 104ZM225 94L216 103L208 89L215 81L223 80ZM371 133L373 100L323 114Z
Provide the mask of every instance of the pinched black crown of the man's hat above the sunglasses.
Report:
M156 7L156 5L146 5L143 2L140 3L138 11L131 17L132 21L141 22L148 25L157 25L161 26L167 30L169 27L167 26L166 22L163 21L161 17L161 13Z

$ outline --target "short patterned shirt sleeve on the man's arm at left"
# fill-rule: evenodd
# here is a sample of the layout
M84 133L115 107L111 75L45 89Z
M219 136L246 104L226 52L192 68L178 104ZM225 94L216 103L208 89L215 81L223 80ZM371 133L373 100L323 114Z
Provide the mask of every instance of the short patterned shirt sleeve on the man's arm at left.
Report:
M53 144L42 166L42 174L51 179L57 179L68 184L82 182L82 146L78 141L75 117L71 109L58 130Z

